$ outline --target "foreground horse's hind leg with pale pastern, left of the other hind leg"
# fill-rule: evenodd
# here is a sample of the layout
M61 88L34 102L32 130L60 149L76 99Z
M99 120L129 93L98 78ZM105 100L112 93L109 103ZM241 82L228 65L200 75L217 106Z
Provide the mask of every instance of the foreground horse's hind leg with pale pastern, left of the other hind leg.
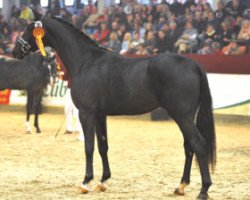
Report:
M185 149L186 160L185 160L183 176L181 178L181 183L174 192L177 195L184 195L185 187L189 185L190 183L190 171L191 171L194 153L193 153L193 150L191 149L190 144L187 142L185 138L184 138L184 149Z

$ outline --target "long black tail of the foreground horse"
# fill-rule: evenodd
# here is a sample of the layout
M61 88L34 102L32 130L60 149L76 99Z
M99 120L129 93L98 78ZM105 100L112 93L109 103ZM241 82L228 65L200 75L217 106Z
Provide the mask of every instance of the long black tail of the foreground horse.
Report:
M208 85L206 73L199 67L200 71L200 100L196 125L202 137L206 140L206 151L209 164L214 170L216 165L216 135L214 127L214 116L212 110L212 97Z

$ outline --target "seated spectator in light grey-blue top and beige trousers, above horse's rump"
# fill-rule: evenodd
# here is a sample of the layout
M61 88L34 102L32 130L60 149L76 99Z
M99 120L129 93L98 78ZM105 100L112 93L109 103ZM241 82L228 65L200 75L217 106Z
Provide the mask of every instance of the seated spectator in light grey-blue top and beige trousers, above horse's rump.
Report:
M192 51L197 45L197 36L198 32L195 28L193 28L192 23L187 22L184 32L175 43L175 46L178 48L178 53L185 53L187 50Z

